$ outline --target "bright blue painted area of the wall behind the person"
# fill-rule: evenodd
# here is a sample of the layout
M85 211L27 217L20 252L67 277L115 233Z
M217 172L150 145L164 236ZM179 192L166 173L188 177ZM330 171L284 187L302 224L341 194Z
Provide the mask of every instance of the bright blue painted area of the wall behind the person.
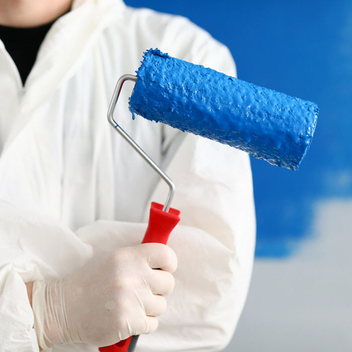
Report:
M126 0L183 15L227 45L238 77L318 104L298 171L251 159L257 257L285 257L309 235L313 206L352 195L352 2Z

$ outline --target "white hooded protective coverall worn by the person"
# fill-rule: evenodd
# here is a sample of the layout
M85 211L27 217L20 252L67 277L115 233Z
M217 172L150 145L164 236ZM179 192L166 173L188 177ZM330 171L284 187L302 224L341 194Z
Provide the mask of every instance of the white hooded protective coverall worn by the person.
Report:
M140 243L150 201L166 198L164 183L106 119L117 79L133 74L151 47L235 75L228 49L187 19L121 0L76 0L48 32L24 87L0 41L2 352L38 351L25 282L65 277L95 253ZM140 336L136 351L219 350L234 332L252 270L249 158L133 121L132 87L125 84L116 119L166 168L182 218L169 239L179 258L175 289L158 330Z

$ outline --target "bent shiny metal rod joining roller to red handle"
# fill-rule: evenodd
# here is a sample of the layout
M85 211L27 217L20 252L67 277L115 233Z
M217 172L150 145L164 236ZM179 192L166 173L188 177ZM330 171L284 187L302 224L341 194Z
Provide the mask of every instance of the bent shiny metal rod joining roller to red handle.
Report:
M138 152L138 154L160 175L160 177L166 182L169 187L169 192L166 198L166 202L163 207L163 211L168 212L170 209L170 204L175 192L175 186L171 179L167 176L167 174L147 155L147 153L121 128L121 126L114 120L114 111L119 99L123 83L126 80L136 81L137 76L132 74L124 74L119 78L116 83L115 91L113 94L113 98L111 99L111 103L108 110L108 121L115 128L117 132L121 134L121 136L130 144L132 147Z

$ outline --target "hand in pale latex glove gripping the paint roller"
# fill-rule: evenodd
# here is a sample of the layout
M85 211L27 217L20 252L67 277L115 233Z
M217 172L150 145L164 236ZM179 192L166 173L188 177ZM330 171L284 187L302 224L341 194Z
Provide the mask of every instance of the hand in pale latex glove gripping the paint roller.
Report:
M160 268L161 270L156 270ZM62 342L96 346L153 332L166 309L177 268L173 250L159 243L122 248L93 258L74 274L33 285L39 346Z

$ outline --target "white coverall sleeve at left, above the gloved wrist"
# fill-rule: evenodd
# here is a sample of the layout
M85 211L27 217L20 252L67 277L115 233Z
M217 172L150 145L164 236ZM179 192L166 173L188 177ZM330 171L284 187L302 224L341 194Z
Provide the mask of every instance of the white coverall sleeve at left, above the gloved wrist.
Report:
M91 257L92 248L58 221L4 201L0 201L0 238L0 350L36 352L25 283L68 275Z

